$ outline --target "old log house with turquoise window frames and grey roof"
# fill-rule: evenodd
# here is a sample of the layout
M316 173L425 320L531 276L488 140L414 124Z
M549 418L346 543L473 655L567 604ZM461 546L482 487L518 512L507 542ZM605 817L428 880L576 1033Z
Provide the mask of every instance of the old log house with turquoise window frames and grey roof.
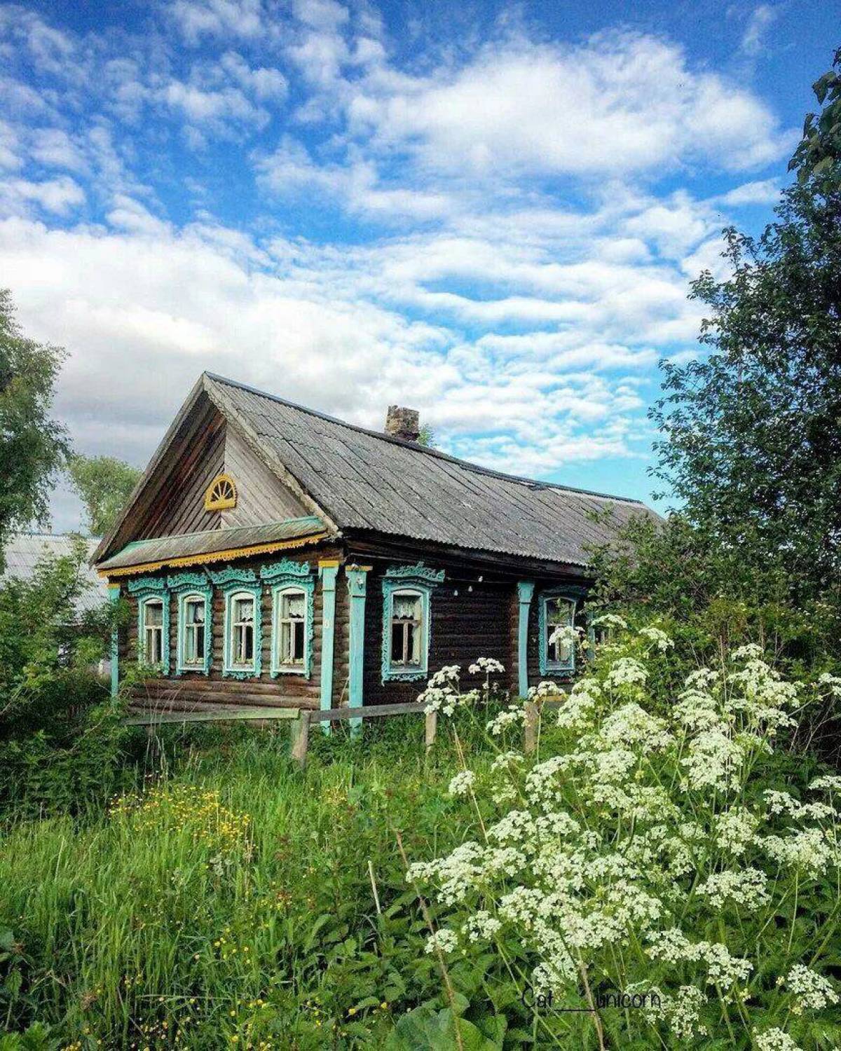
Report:
M580 616L587 547L651 512L417 435L412 410L380 434L200 377L93 559L134 609L121 661L163 669L156 706L414 700L479 656L515 694L572 675L549 637Z

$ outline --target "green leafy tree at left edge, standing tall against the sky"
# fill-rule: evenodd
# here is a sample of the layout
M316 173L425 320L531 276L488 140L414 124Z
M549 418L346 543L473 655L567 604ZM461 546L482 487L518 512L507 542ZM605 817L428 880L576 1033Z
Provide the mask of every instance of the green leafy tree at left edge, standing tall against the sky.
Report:
M0 289L0 569L8 533L46 521L49 480L67 455L66 432L49 418L63 357L23 335Z

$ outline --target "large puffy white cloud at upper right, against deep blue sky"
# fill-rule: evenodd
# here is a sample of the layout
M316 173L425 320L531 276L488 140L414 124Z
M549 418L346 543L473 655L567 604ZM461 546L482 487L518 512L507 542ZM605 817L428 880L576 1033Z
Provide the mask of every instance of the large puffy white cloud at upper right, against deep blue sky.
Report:
M345 95L358 136L402 146L429 170L474 176L603 178L696 158L738 170L778 158L787 145L750 90L693 70L676 45L637 34L577 47L512 40L426 78L375 70L346 84Z

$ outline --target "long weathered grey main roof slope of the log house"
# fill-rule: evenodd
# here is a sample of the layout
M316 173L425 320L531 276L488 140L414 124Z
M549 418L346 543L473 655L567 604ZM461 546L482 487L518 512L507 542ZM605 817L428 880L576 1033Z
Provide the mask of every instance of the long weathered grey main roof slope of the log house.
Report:
M586 565L638 500L500 474L205 373L223 414L344 532ZM599 521L592 513L597 512Z

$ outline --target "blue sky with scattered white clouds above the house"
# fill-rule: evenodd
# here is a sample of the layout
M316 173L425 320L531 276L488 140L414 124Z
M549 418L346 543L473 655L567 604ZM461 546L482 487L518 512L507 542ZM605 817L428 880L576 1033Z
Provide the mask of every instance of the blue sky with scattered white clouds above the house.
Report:
M771 214L833 8L0 5L0 286L81 452L142 466L210 369L648 498L657 362Z

